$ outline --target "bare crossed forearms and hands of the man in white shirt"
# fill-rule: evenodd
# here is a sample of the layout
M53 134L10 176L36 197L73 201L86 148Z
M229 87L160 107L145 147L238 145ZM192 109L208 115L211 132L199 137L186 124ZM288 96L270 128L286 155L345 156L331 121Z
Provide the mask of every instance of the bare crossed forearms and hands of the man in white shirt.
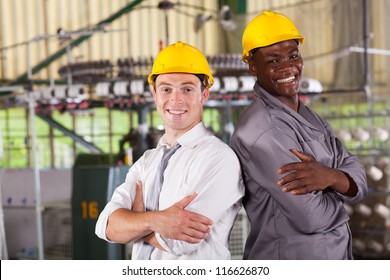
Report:
M133 208L131 210L120 208L109 216L107 239L127 243L143 238L144 241L156 245L152 233L159 232L169 238L197 243L206 237L212 221L184 209L195 197L196 194L189 195L162 211L144 211L142 184L137 183ZM161 249L159 246L156 247Z

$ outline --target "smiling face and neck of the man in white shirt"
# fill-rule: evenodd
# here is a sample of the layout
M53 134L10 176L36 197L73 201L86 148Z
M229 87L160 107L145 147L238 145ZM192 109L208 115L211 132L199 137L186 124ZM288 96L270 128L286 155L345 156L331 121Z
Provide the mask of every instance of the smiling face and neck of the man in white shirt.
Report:
M170 144L202 120L203 105L209 96L197 76L185 73L158 75L152 93Z

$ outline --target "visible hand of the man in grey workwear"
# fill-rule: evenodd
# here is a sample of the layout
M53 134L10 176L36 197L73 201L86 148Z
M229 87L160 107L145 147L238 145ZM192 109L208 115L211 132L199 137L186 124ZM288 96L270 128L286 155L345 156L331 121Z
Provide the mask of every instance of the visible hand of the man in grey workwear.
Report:
M340 171L320 164L308 154L294 149L290 151L301 162L286 164L277 171L279 174L289 172L278 181L278 185L282 187L283 192L300 195L312 191L322 191L337 183L336 177L339 176L337 173L340 173Z

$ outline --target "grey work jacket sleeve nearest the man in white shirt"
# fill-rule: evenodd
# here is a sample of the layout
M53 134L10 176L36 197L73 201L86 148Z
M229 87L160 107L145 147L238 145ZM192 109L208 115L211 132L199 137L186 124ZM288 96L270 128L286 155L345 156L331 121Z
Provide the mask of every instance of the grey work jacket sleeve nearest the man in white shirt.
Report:
M282 192L277 185L278 180L284 176L278 174L277 169L299 160L289 149L303 150L294 135L286 134L278 128L270 128L250 147L245 139L239 138L238 141L235 143L236 147L243 145L249 151L248 157L242 162L245 176L270 194L298 232L327 232L345 220L342 201L332 190L293 195Z

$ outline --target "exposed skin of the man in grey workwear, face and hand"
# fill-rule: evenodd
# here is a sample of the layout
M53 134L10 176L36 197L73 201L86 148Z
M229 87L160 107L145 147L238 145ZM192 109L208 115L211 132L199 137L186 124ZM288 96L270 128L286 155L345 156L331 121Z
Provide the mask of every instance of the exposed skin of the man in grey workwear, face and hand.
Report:
M249 70L257 77L259 85L296 112L303 68L303 60L295 40L261 47L249 61ZM357 194L357 185L348 174L322 165L311 155L297 150L290 152L300 162L286 164L277 170L279 174L286 174L277 182L283 192L302 195L330 187L346 196Z

